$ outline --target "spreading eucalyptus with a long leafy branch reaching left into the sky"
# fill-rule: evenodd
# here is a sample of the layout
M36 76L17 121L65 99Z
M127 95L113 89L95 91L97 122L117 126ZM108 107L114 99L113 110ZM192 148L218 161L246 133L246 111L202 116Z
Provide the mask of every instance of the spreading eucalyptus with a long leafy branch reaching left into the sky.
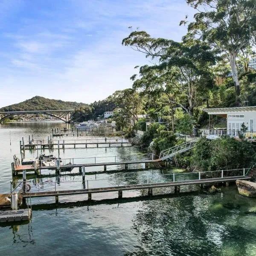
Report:
M169 74L177 70L175 79L186 96L188 113L193 115L202 81L211 76L209 67L215 64L215 55L207 44L198 40L175 42L164 38L151 38L145 31L134 31L124 38L123 45L143 52L146 57L157 58L154 68ZM170 76L173 76L171 73Z

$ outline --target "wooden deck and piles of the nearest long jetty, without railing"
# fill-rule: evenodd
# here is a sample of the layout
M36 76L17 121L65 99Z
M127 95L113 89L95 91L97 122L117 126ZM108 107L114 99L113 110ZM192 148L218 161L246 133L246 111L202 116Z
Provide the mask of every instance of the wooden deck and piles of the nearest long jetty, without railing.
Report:
M200 177L200 175L199 175ZM246 176L233 176L233 177L220 177L220 178L207 178L198 180L183 180L183 181L172 181L163 183L147 183L147 184L136 184L128 186L112 186L112 187L101 187L89 189L72 189L72 190L61 190L61 191L42 191L42 192L31 192L23 194L24 198L39 198L39 197L52 197L55 196L55 202L58 203L58 197L63 195L81 195L87 194L88 200L92 199L92 194L103 193L103 192L118 192L118 198L122 198L122 192L127 190L140 190L148 189L148 195L153 195L154 188L166 188L175 187L175 193L180 192L180 186L186 185L201 185L206 183L223 183L228 185L229 182L234 182L236 180L250 180L250 177ZM87 183L88 184L88 183ZM85 181L84 181L85 185ZM56 187L56 186L55 186Z

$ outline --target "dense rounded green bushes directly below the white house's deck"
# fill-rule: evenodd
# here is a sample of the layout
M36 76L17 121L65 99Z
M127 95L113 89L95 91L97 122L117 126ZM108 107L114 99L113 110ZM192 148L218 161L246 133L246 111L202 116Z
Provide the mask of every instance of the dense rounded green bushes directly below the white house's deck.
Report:
M216 140L201 138L195 144L192 165L202 171L246 168L254 154L253 145L244 140L228 136Z

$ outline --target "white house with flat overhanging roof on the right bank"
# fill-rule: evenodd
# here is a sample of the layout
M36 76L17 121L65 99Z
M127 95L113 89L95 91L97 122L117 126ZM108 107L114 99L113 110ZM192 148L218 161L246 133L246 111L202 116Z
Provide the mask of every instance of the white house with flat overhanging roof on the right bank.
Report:
M227 134L238 136L241 125L244 123L248 132L252 133L256 129L256 106L237 108L205 108L203 111L209 115L221 116L227 119ZM210 120L210 119L209 119Z

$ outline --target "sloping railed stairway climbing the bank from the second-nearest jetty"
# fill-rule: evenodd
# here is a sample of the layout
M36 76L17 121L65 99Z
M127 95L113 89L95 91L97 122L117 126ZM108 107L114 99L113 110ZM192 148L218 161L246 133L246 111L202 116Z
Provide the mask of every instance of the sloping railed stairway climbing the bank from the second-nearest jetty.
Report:
M198 140L199 138L195 138L192 140L188 140L180 145L176 145L172 148L167 148L166 150L163 150L160 153L159 156L159 160L161 161L165 161L167 159L171 160L173 159L177 154L189 151L190 149L194 148L195 146L195 142Z

